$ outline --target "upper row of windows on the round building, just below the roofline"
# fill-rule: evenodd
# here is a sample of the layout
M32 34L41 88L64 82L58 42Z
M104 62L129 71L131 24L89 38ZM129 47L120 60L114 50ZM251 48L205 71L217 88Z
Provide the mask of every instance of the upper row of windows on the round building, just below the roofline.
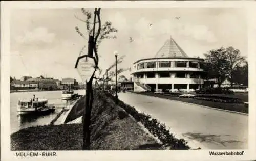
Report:
M159 62L158 67L159 68L170 68L172 67L172 62L166 61L166 62ZM135 67L135 66L134 66ZM199 62L190 62L188 63L186 61L174 61L174 67L175 68L200 68ZM147 63L139 63L137 69L144 69L144 68L156 68L156 62L147 62Z

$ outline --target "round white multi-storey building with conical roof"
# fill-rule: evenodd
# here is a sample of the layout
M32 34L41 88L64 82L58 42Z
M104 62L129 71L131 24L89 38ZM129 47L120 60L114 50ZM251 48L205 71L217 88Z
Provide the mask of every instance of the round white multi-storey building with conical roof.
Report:
M194 91L204 83L203 61L201 58L188 57L170 36L154 58L134 63L134 91Z

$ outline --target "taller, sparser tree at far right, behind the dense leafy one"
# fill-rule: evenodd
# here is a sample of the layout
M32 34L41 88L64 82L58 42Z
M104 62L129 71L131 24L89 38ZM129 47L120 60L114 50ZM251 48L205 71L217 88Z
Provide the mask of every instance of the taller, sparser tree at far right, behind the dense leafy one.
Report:
M245 61L245 57L241 56L241 52L239 49L234 49L232 46L226 48L225 55L227 58L227 77L232 87L234 82L234 70Z

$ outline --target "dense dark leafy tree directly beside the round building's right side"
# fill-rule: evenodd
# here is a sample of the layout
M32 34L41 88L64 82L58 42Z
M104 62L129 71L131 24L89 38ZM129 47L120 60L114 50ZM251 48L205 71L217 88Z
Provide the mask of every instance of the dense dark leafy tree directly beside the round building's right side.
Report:
M212 49L204 54L204 68L207 72L206 78L217 78L218 86L226 79L227 76L227 56L225 48Z

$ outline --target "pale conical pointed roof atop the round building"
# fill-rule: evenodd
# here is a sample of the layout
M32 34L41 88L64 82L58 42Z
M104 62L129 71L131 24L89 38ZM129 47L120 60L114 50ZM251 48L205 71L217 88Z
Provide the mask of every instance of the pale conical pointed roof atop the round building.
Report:
M166 40L164 45L155 55L155 58L168 58L168 57L188 57L182 48L176 41L170 36L170 39Z

